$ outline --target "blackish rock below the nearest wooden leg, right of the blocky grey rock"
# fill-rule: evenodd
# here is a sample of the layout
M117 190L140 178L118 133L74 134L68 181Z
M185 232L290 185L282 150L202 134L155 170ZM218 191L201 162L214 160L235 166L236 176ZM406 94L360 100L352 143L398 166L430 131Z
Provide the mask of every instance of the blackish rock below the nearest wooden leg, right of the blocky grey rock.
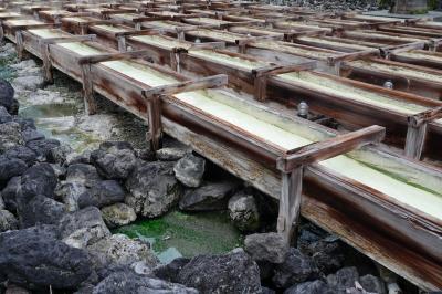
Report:
M307 281L315 273L316 267L312 259L297 249L291 248L284 262L275 265L272 281L275 286L286 288Z

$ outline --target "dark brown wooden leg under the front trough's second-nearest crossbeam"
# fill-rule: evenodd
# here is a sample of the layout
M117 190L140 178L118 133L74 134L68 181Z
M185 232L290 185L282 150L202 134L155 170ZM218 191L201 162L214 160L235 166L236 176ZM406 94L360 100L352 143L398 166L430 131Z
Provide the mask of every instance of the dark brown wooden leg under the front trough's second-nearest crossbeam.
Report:
M150 150L156 151L162 145L162 126L161 126L161 98L154 96L147 102L147 114L149 122L149 133L147 139L150 143Z

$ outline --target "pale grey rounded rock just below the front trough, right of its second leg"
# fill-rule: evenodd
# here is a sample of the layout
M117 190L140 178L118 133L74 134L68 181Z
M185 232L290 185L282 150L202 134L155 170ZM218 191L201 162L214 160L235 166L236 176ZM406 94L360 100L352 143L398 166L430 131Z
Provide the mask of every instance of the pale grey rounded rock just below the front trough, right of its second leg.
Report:
M197 188L202 182L206 161L201 157L188 154L182 157L173 167L175 176L185 186Z

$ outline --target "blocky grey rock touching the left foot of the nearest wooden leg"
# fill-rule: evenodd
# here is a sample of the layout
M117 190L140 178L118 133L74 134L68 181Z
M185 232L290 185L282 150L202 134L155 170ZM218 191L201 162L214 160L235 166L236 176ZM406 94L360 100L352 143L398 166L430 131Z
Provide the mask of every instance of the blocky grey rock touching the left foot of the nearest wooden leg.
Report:
M288 243L278 233L256 233L245 237L244 250L254 261L282 263L288 253Z

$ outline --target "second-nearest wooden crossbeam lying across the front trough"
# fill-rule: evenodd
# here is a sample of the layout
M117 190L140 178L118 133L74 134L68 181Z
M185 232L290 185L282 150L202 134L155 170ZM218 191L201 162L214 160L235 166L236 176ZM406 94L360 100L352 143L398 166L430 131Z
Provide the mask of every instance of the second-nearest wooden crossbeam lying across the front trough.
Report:
M213 76L191 80L181 83L157 86L143 91L143 96L150 99L154 96L173 95L181 92L196 91L201 88L220 87L228 84L228 75L218 74Z

